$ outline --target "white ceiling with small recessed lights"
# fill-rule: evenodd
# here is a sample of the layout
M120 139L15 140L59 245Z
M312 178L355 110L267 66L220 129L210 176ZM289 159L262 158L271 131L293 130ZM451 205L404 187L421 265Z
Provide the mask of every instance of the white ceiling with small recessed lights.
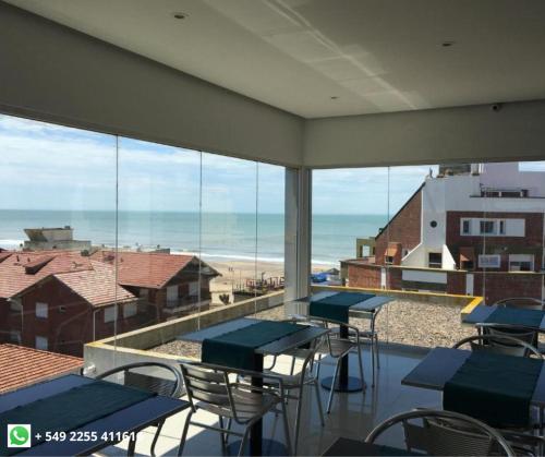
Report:
M305 118L545 98L543 0L8 2Z

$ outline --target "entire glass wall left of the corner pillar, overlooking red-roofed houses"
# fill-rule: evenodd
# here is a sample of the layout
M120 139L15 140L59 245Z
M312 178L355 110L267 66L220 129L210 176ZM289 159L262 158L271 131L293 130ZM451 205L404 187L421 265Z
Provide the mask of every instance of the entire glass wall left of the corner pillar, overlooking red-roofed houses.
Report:
M82 357L93 340L281 301L283 167L9 116L0 149L0 342Z

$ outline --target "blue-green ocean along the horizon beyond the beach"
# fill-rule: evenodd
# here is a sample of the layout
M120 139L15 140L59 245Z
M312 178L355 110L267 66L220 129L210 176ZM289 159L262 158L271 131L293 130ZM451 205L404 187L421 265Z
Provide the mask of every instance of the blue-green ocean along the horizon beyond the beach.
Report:
M283 262L282 214L119 212L119 245L170 248L203 258ZM376 236L386 215L314 215L313 263L339 265L354 257L355 239ZM0 209L0 248L15 249L24 228L74 229L74 239L116 245L116 213L109 211ZM199 233L199 226L202 230ZM257 240L257 242L256 242ZM256 253L257 251L257 253Z

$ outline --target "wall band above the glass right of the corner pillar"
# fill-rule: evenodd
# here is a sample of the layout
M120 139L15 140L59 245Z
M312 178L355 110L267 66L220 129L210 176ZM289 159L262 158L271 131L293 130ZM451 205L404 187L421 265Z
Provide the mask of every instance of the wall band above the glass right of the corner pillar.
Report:
M303 158L308 167L542 160L544 123L545 100L314 119Z

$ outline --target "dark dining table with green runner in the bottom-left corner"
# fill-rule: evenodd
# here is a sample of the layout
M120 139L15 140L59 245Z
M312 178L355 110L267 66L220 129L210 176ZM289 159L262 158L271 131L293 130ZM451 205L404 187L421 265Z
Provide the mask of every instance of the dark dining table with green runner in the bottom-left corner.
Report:
M0 396L0 455L88 455L189 407L178 398L68 374ZM13 423L29 426L29 447L3 448ZM133 454L131 440L128 455Z

